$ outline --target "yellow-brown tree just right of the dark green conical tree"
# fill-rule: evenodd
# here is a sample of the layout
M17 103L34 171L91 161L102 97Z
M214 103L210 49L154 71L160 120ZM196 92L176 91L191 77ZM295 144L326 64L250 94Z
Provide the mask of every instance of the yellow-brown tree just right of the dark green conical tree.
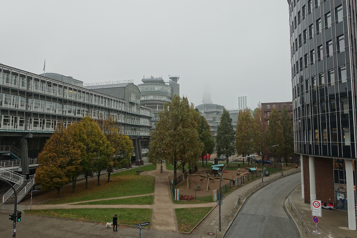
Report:
M253 119L250 110L240 110L236 127L236 147L238 155L251 155L259 141L259 127Z

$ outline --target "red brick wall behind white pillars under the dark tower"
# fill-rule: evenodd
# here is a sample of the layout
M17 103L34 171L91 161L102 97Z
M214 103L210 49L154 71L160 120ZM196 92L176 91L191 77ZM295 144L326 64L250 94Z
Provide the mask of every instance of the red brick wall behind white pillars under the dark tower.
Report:
M333 159L315 157L316 199L322 202L335 201Z

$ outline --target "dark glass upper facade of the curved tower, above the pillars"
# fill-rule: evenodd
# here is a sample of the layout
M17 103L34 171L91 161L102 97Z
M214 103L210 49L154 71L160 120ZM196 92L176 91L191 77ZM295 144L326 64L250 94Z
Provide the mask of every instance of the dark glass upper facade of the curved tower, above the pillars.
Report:
M289 3L295 152L356 158L356 1Z

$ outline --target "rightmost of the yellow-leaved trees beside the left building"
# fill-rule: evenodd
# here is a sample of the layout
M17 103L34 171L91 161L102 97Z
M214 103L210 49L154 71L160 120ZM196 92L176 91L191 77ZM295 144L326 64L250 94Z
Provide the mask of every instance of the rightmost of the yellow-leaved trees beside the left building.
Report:
M106 167L109 182L111 172L114 168L122 168L125 164L130 163L134 146L129 136L123 135L119 131L112 116L110 116L107 120L99 121L98 124L111 147L111 155Z

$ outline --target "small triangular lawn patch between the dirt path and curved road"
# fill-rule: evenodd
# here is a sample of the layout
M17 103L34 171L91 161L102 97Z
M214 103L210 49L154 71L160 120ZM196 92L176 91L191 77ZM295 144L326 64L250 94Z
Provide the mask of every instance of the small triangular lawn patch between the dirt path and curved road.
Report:
M176 220L179 232L190 232L212 207L176 208Z

